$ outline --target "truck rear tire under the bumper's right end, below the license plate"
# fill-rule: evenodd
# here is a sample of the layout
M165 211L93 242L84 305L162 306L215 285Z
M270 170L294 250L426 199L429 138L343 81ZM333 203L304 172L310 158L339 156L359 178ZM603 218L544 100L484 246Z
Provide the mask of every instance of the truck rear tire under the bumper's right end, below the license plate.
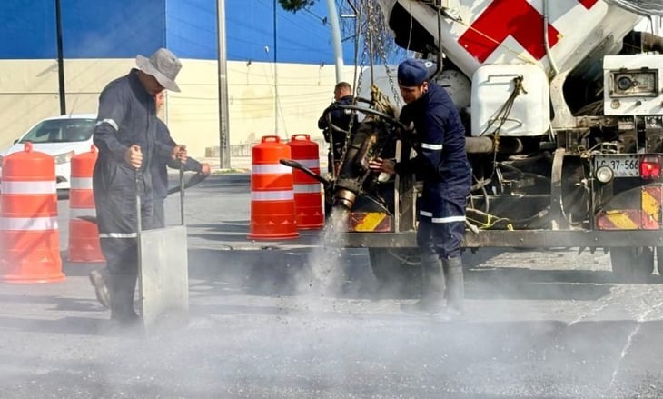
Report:
M643 282L654 272L654 251L648 246L610 248L610 263L619 282Z

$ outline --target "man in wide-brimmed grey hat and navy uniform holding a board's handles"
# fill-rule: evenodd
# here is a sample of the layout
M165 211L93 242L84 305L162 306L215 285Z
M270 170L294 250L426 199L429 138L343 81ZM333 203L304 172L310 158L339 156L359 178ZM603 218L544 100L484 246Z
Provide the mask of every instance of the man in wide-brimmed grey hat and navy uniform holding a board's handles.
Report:
M90 278L100 302L110 304L111 320L123 326L139 320L134 310L136 222L141 217L143 229L151 228L150 165L158 156L186 161L184 145L156 140L154 95L163 89L180 91L175 83L182 68L180 60L160 48L149 58L138 55L136 65L128 75L105 86L94 127L94 145L99 148L93 174L94 202L107 267ZM136 195L141 199L140 214L136 214Z

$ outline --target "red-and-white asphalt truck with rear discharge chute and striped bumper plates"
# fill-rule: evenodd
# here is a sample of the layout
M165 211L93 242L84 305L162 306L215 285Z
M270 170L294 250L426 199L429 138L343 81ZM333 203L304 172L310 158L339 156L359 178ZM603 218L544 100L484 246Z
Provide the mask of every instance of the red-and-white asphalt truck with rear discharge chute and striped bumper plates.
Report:
M460 110L466 249L600 249L620 280L663 275L663 38L634 31L658 2L378 3L397 45L438 62ZM343 214L339 244L368 248L382 283L402 281L417 264L419 185L368 162L410 156L411 143L383 95L357 100L346 108L365 117L322 181Z

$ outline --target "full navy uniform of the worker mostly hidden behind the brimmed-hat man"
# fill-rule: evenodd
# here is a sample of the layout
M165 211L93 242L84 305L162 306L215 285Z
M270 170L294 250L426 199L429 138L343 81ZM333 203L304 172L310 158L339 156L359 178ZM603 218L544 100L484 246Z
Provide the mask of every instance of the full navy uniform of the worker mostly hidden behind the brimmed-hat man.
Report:
M156 126L156 141L169 148L177 145L171 136L168 126L166 126L161 119L157 119ZM180 168L180 162L174 160L170 153L166 156L156 155L153 159L150 173L152 175L152 190L153 190L153 228L165 227L165 211L163 209L163 202L168 196L168 167L173 169ZM192 157L187 157L183 165L184 171L200 172L202 165Z

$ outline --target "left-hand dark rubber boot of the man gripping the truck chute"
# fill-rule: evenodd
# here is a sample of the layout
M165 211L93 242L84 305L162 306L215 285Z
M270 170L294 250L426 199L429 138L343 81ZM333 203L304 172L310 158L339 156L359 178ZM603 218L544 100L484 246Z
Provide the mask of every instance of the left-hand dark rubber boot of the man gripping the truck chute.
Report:
M402 304L410 313L436 314L444 310L444 273L437 255L421 257L421 299L414 304Z

